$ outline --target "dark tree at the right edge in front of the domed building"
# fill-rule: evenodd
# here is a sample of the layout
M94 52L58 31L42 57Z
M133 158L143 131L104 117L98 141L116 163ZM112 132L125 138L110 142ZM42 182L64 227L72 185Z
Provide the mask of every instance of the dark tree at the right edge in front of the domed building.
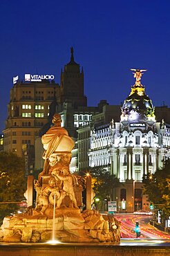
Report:
M162 210L165 218L170 216L170 161L161 170L143 176L144 194L149 196L154 208Z

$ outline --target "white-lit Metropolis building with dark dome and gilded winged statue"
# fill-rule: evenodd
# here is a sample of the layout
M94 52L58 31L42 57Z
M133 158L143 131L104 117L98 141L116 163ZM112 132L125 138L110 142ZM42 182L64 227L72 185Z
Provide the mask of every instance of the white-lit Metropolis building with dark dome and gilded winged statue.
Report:
M129 212L149 210L142 176L161 168L170 156L169 125L164 120L156 122L153 104L140 81L146 70L132 71L135 84L122 105L120 122L94 125L88 152L91 167L103 166L120 179L121 188L111 200L117 201L117 210Z

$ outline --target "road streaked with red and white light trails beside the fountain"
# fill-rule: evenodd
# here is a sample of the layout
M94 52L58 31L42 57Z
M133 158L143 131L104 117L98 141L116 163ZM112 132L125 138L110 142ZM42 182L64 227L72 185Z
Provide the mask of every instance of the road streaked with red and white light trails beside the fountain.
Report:
M140 239L166 240L170 243L170 235L167 232L158 230L150 225L149 220L152 217L146 215L133 214L115 214L114 217L121 222L121 237L126 239L135 239L135 222L139 223ZM148 240L147 240L148 241Z

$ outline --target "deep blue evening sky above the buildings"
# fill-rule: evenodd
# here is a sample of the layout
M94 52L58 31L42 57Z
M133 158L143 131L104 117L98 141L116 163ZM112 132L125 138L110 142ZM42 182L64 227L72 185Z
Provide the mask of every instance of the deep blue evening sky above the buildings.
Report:
M12 77L50 73L59 82L70 46L89 106L123 102L135 82L129 68L147 69L142 84L153 105L169 106L169 12L169 0L1 0L0 131Z

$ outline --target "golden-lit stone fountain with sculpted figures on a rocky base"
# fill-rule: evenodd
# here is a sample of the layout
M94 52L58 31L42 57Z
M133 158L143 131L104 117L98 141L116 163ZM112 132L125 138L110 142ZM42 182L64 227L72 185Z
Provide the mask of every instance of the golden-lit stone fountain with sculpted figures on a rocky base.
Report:
M59 114L55 113L54 126L41 138L45 149L44 170L34 181L37 193L35 208L28 209L24 214L5 217L0 229L0 241L48 241L55 228L55 238L59 241L119 243L118 221L91 210L91 203L87 203L86 210L80 210L82 185L69 168L75 143L66 129L61 127L61 122Z

